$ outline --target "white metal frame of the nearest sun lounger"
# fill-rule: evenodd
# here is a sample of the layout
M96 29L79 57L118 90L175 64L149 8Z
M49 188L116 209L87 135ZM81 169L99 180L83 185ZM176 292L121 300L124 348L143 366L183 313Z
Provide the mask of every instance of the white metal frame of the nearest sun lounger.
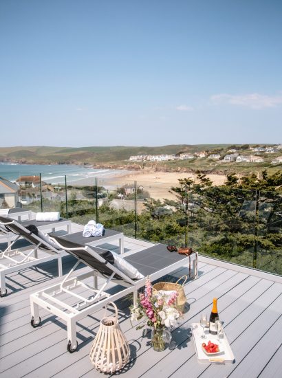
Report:
M63 245L60 245L60 247L63 248ZM90 246L82 246L80 248L67 248L67 250L69 251L81 249L85 249L85 251L94 256L101 263L105 262L105 259L102 258L93 249L91 249ZM105 251L105 249L102 250ZM119 269L117 269L111 264L108 264L108 267L109 265L111 265L110 269L113 271L113 274L111 274L111 276L109 276L109 278L105 280L102 287L98 289L97 278L98 276L102 276L98 270L91 270L85 274L81 274L80 276L70 278L70 276L74 272L74 269L76 269L79 263L85 264L85 261L78 260L62 282L51 287L45 288L41 291L37 291L36 293L32 293L30 295L32 326L36 327L39 326L41 323L41 318L39 317L39 307L42 307L43 309L50 311L50 313L53 313L59 318L65 320L67 324L67 351L69 351L69 353L76 351L78 345L76 340L76 322L85 318L85 316L89 315L90 313L93 313L94 311L101 309L109 300L118 300L120 298L123 298L124 296L127 296L129 293L133 293L133 304L136 304L138 298L138 289L144 287L145 285L145 278L142 278L140 280L131 280L131 278L123 274ZM184 263L189 263L189 259L182 259L177 263L173 263L172 265L169 265L164 269L156 271L155 273L150 275L151 281L165 276L166 274L171 273L171 271L174 271L177 268L183 267ZM192 277L197 278L197 253L191 255L191 263ZM123 278L123 280L113 280L113 282L124 286L125 289L122 289L118 291L118 293L110 295L105 290L107 289L107 287L109 287L109 283L111 282L115 273L118 274L121 278ZM93 287L83 282L83 280L89 277L94 278ZM102 277L105 278L105 276ZM77 293L72 292L72 290L76 289L77 287L84 287L85 289L89 289L93 292L93 295L91 297L85 298L83 296L78 295ZM57 296L61 295L61 293L68 293L69 295L76 298L76 300L78 300L76 305L69 306L68 304L63 302L63 300L56 298Z

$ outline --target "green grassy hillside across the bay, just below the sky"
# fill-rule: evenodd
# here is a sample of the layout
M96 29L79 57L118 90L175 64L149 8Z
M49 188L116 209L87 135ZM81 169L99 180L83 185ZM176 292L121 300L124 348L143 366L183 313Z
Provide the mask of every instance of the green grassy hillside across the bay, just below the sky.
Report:
M238 146L238 145L237 145ZM222 160L212 159L189 159L172 162L129 162L131 155L158 155L162 153L195 153L197 151L218 152L221 157L228 153L230 144L177 144L158 147L147 146L90 146L80 148L70 147L0 147L0 162L17 162L26 164L91 164L96 167L109 166L112 168L124 166L124 168L142 169L144 167L156 170L201 170L204 173L261 173L267 169L271 173L281 170L282 164L272 166L271 161L276 155L262 154L265 160L263 163L226 163ZM243 148L238 146L238 148ZM243 155L250 155L252 152L246 147L238 151Z

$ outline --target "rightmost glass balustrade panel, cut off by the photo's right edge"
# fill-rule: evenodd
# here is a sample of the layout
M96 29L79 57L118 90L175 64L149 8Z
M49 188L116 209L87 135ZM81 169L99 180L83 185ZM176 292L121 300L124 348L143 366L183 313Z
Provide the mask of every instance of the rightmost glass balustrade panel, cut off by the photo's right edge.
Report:
M256 267L282 274L281 192L260 192L257 218Z

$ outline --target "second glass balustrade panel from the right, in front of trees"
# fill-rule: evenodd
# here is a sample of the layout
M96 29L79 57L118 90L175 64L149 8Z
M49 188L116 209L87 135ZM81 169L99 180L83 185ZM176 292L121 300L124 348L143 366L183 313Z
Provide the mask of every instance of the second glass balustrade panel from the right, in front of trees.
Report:
M188 210L188 245L200 254L252 267L255 191L196 186Z

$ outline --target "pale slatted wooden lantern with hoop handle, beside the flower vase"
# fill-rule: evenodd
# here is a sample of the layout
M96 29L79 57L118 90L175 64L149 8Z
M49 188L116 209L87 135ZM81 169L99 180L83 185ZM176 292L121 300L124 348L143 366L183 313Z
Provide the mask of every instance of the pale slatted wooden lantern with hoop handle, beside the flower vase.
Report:
M102 318L89 354L91 363L102 373L114 373L120 370L129 362L130 357L129 344L118 324L116 304L108 302L105 314L108 304L112 304L116 314Z

